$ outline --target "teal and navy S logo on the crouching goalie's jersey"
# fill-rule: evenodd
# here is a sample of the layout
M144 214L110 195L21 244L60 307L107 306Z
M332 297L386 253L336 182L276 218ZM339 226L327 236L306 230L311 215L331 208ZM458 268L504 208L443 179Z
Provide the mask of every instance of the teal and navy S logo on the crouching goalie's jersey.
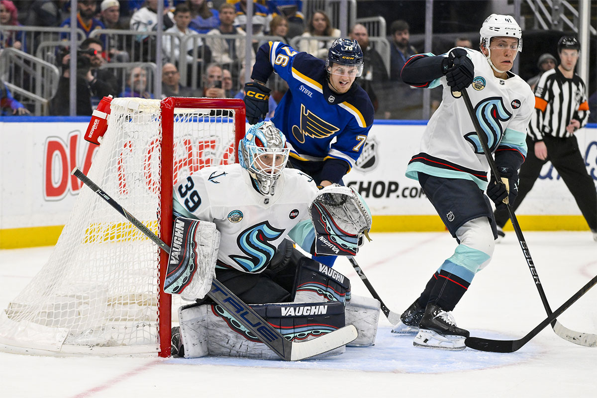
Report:
M249 227L236 240L238 247L248 257L240 255L230 255L229 257L247 272L259 272L272 260L273 254L276 252L275 246L269 242L278 239L283 232L283 229L276 229L267 221Z

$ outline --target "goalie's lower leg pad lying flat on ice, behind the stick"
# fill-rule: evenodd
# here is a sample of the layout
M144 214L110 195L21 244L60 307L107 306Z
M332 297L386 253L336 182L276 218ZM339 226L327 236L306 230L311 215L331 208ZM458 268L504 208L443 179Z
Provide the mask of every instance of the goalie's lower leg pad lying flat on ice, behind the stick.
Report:
M183 309L183 316L180 318L181 334L183 330L185 331L183 335L185 358L209 354L279 359L277 354L217 304L187 307L184 307L187 309ZM251 308L291 341L311 340L346 325L344 306L338 302L308 305L304 303L256 304ZM190 324L186 325L186 323ZM344 350L344 346L338 347L316 358L338 355Z

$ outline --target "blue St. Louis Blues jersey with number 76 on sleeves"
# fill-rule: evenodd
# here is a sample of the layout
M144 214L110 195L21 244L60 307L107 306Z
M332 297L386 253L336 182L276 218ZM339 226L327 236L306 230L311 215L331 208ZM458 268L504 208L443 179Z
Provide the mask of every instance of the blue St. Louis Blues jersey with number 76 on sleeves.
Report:
M272 70L288 83L272 122L286 135L290 156L310 162L339 159L350 170L373 124L367 93L358 84L345 94L334 93L325 61L281 42L259 48L251 77L267 81Z

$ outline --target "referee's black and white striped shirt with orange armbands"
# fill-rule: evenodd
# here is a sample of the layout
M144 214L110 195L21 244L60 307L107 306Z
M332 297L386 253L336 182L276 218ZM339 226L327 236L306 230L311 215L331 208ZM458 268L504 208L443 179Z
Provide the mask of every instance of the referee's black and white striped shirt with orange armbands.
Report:
M576 73L567 79L555 67L541 75L535 88L535 110L528 126L528 135L533 141L543 140L544 135L571 137L566 126L571 119L580 122L580 127L589 119L589 103L583 79Z

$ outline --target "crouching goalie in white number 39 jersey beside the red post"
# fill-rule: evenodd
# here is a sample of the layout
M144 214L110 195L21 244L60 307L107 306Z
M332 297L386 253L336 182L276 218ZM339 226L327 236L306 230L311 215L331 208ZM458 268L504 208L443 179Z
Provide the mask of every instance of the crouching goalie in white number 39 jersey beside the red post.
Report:
M296 328L302 325L304 336L316 335L344 326L350 282L337 271L301 254L293 247L293 242L311 254L355 255L362 233L371 227L371 215L362 198L349 187L330 186L319 190L309 175L286 168L288 152L284 134L272 122L259 122L239 142L239 163L200 169L174 186L174 216L215 224L221 236L219 249L216 249L216 277L245 303L265 306L293 302L340 304L337 316L328 314L304 325L297 322L306 322L306 319L295 320ZM334 202L331 200L334 198L341 200ZM356 207L351 208L350 203ZM322 220L328 220L328 224L324 225ZM355 229L351 229L352 226ZM201 237L197 241L201 242ZM174 354L180 356L181 347L187 347L186 356L205 354L196 350L195 343L187 346L182 341L195 342L198 338L194 335L195 326L191 326L195 320L187 324L183 319L195 319L199 311L205 311L199 307L206 304L211 305L210 299L181 307L181 325L189 325L189 328L184 329L186 332L178 327L173 330ZM293 307L284 308L290 308L283 311L285 314L294 313ZM279 313L280 309L272 311ZM220 316L230 317L230 314ZM226 322L230 328L238 326L233 319ZM313 328L316 330L311 331ZM223 329L228 330L227 326ZM236 332L244 333L235 330L232 335L238 335ZM370 337L374 338L373 332ZM235 341L229 344L219 341L213 347L238 345L238 350L221 351L220 347L212 348L210 353L216 350L217 354L233 356L254 354L251 349L245 350L251 343L242 338L236 342L238 344ZM373 341L363 344L373 344Z

